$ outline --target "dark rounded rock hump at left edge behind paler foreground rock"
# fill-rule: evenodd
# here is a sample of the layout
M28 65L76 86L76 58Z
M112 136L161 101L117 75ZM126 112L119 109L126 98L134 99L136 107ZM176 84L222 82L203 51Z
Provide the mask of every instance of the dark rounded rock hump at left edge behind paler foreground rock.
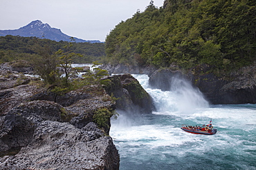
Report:
M26 147L42 120L61 120L60 105L48 101L21 103L11 109L0 126L0 155Z

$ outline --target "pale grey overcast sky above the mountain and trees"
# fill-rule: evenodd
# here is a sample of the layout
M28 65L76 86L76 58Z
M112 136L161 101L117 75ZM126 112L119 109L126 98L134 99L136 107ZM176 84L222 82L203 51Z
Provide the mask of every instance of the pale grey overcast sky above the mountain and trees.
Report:
M164 0L154 0L156 7ZM150 0L0 0L0 30L40 20L68 36L105 41L121 21L143 12Z

